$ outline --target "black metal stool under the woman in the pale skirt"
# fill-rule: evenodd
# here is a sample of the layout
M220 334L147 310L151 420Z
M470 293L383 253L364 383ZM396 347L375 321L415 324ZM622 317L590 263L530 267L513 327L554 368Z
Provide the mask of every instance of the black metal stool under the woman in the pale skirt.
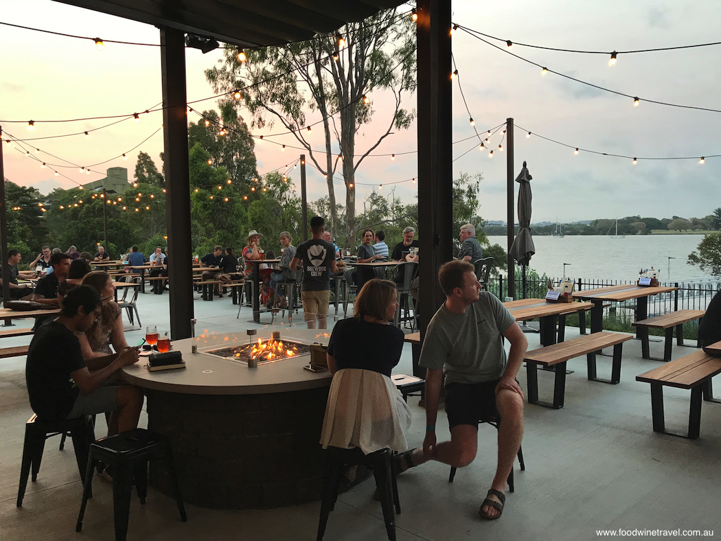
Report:
M381 497L383 518L386 522L388 539L396 539L396 514L401 512L398 497L398 485L393 463L393 454L389 449L381 449L370 454L363 454L358 447L340 449L328 447L326 455L325 479L323 482L323 498L320 504L317 541L322 541L330 511L335 507L340 489L340 471L345 466L367 465L373 468L376 488Z

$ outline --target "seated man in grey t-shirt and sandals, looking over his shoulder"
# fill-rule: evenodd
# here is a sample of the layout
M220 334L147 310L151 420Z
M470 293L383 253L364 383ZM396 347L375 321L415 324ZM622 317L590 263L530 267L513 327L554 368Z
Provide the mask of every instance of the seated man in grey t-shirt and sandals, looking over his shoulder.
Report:
M503 512L506 479L523 438L523 391L516 374L528 342L503 304L481 291L473 265L463 260L446 263L438 271L438 281L446 302L430 321L420 353L420 366L428 370L425 440L423 449L401 455L399 471L428 460L467 466L476 457L479 420L503 419L498 428L495 477L479 509L482 518L493 520ZM502 335L510 342L508 359ZM436 444L443 374L451 441Z

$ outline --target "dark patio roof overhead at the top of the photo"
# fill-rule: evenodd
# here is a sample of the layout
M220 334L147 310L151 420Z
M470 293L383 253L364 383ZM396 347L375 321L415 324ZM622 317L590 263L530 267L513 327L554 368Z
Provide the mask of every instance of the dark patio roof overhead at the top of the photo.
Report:
M56 0L158 27L211 35L243 47L280 45L332 32L402 0Z

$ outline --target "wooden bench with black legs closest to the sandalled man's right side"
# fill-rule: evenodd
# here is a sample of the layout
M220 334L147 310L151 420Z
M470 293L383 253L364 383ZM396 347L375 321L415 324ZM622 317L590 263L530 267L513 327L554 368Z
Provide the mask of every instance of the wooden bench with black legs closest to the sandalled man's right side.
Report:
M621 381L621 353L623 343L631 340L632 335L616 333L591 333L579 336L567 342L546 346L526 352L526 373L528 374L528 403L538 404L547 408L563 408L563 399L566 390L566 361L587 356L588 379L593 382L616 384ZM596 351L614 346L614 360L611 365L611 379L596 377ZM553 391L553 403L539 401L538 365L554 366L556 378Z

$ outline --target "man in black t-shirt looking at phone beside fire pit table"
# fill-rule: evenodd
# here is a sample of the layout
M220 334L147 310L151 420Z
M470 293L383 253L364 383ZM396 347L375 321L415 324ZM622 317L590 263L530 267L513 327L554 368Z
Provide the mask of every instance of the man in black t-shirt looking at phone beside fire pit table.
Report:
M134 385L105 385L123 366L138 361L138 348L83 360L76 334L100 315L100 296L77 286L63 299L61 315L40 327L27 351L25 380L30 406L42 421L110 414L108 435L137 428L143 392Z

